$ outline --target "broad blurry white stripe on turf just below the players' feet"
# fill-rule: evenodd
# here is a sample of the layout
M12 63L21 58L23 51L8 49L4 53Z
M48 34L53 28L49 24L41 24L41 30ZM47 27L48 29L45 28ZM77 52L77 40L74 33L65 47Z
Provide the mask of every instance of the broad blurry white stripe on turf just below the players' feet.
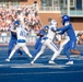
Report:
M70 67L70 66L66 66L66 65L43 65L43 63L5 63L5 65L0 65L1 67L10 67L10 68L49 68L49 69L64 69L66 67Z

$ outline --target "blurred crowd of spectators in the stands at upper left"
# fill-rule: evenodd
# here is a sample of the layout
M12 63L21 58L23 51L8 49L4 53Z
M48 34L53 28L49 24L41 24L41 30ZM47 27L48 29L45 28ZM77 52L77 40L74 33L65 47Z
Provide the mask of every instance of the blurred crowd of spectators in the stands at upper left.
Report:
M0 8L0 34L4 35L8 32L10 25L15 20L20 20L26 27L31 27L31 34L33 31L38 32L42 27L40 20L36 7L16 7L16 8Z

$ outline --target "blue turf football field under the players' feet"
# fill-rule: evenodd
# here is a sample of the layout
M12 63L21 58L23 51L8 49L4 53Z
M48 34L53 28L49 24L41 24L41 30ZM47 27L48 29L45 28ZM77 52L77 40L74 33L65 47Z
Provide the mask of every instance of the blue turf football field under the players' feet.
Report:
M33 46L28 46L31 52ZM76 49L83 50L83 46ZM67 57L61 52L55 61L58 63L48 65L52 51L48 48L37 59L35 65L29 65L31 60L25 54L22 57L15 54L10 62L4 61L8 47L0 47L0 82L83 82L83 57L71 55L74 60L73 66L66 66Z

